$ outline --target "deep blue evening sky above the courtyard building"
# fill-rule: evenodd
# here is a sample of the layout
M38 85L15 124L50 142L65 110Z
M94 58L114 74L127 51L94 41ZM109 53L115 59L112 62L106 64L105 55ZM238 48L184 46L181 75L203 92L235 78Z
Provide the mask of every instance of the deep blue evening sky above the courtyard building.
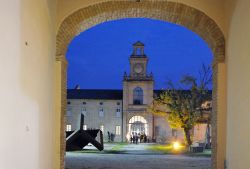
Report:
M166 88L167 79L177 82L184 74L197 75L202 63L212 63L206 42L182 26L152 19L115 20L72 40L66 54L68 88L122 89L132 44L138 40L145 44L155 89Z

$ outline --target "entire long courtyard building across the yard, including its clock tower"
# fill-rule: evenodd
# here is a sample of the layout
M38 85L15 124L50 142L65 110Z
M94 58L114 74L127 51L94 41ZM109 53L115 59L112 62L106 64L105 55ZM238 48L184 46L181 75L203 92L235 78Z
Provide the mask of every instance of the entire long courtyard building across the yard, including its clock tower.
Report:
M133 44L129 58L130 72L124 73L123 90L69 89L66 114L66 130L80 128L80 115L84 115L83 129L101 129L104 141L108 133L114 134L115 142L129 141L133 135L146 135L148 141L160 143L183 141L183 132L171 129L166 115L149 111L153 98L161 91L154 90L153 74L147 70L148 57L144 44ZM194 128L194 140L205 142L207 124Z

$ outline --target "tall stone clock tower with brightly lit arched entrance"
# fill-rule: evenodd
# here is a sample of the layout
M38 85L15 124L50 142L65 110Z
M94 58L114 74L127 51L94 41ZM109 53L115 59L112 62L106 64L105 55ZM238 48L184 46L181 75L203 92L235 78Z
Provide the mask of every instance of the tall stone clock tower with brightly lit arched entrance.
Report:
M145 134L153 137L153 115L148 107L153 101L154 80L148 74L148 57L140 41L133 44L129 57L130 73L123 78L123 138L129 140L131 135Z

